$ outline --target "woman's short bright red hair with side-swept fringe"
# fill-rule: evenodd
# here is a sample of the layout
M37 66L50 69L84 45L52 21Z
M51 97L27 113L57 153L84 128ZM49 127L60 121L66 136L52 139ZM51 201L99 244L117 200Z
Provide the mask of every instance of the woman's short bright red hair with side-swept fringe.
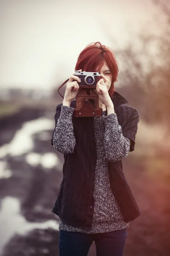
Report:
M108 90L109 95L112 97L115 91L114 82L117 81L119 69L116 57L110 48L105 47L105 45L102 45L100 42L88 44L85 49L80 52L75 70L82 69L82 71L100 72L105 61L112 74L111 87Z

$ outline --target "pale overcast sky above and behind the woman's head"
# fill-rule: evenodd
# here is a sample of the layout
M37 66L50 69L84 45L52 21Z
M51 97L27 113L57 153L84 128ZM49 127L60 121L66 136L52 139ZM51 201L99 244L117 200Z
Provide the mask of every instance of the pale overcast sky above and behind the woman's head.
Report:
M141 29L158 33L160 12L151 0L0 0L0 87L52 88L87 44L114 51Z

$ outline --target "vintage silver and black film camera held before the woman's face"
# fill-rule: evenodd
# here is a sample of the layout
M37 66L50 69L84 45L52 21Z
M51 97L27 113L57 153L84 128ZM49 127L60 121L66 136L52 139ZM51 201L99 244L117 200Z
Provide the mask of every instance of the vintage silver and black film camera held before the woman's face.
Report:
M80 88L96 88L96 84L102 78L99 72L86 72L78 71L74 72L74 76L78 76L81 82L78 82Z

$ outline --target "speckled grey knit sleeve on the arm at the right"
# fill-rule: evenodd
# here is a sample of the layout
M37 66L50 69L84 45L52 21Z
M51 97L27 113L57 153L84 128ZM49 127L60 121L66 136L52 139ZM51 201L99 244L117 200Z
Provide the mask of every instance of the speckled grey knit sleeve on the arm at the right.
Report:
M105 116L105 157L108 161L116 162L126 157L130 150L130 139L122 134L116 113Z

